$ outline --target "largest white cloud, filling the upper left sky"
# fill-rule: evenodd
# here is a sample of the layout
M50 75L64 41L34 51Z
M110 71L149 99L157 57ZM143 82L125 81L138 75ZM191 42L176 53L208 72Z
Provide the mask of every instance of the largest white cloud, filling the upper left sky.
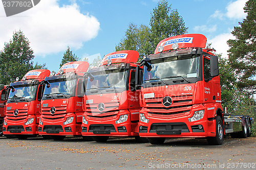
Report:
M95 38L100 23L94 16L82 14L74 3L59 7L58 0L40 1L32 9L23 13L5 16L0 7L0 49L9 42L14 30L23 31L29 39L35 55L58 53L70 46L77 50L82 43Z

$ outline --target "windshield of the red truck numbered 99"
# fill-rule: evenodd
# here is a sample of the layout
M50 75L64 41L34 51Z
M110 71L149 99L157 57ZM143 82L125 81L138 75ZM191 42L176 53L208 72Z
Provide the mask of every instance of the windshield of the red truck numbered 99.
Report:
M9 101L10 102L30 102L35 100L36 89L38 84L27 84L23 86L13 86L15 91L10 90Z

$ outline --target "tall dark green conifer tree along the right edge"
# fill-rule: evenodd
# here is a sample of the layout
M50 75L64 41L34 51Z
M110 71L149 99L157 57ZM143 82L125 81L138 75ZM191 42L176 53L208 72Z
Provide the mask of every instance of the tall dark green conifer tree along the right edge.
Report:
M231 32L236 39L229 39L229 61L237 76L240 90L256 92L256 2L249 0L244 7L247 16Z

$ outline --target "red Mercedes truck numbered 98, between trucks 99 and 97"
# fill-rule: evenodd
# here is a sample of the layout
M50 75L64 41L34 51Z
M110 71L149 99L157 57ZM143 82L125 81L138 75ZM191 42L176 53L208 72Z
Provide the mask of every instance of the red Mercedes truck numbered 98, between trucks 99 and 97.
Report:
M67 135L81 135L83 114L83 74L89 63L74 61L63 64L57 74L44 81L38 134L54 140Z

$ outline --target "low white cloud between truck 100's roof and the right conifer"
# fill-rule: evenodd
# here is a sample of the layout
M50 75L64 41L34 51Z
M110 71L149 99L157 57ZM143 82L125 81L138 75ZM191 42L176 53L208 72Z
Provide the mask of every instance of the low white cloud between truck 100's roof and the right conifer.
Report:
M231 33L224 33L215 36L212 39L208 39L207 43L212 43L211 47L214 47L217 54L222 53L222 57L228 57L229 46L227 44L227 40L234 39L234 36Z

